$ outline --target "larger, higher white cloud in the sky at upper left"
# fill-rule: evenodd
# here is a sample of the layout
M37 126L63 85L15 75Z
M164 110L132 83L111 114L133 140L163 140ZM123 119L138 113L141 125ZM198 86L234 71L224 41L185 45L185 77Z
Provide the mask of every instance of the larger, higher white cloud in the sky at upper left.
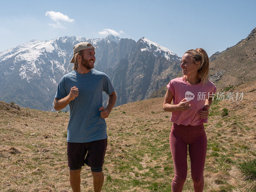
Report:
M63 26L63 24L60 23L61 21L69 22L69 23L75 21L74 19L70 19L67 15L64 15L61 12L47 11L45 13L45 16L46 17L49 16L51 20L56 21L55 24L50 24L49 23L50 26L55 27L55 28L65 28Z

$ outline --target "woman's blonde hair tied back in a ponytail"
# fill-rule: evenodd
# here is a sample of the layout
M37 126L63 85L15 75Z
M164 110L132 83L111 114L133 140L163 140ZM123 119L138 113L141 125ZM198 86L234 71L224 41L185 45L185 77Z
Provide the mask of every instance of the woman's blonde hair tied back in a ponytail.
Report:
M200 62L196 70L198 73L198 77L201 79L202 84L203 85L206 84L209 78L209 58L206 51L202 48L197 48L197 49L190 49L186 51L185 54L186 53L189 54L190 58L193 60L193 63L195 65L197 65L198 61ZM187 76L184 75L182 78L186 80ZM193 81L195 81L195 79ZM192 83L194 84L195 82L192 82Z

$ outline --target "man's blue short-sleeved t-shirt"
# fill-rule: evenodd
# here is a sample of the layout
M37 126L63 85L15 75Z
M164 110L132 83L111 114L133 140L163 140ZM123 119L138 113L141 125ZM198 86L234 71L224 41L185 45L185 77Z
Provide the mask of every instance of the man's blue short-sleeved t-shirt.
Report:
M69 102L68 142L84 143L108 138L105 119L100 116L102 91L111 95L114 87L105 73L91 69L80 74L72 71L60 79L55 98L66 97L71 87L78 88L78 96Z

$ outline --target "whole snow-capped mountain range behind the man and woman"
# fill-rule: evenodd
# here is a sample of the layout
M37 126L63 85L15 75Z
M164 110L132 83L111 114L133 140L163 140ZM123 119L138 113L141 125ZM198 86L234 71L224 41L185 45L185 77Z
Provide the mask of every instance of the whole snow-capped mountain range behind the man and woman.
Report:
M96 39L76 36L63 36L50 41L33 39L16 48L0 52L0 100L14 101L23 107L52 110L52 101L58 82L64 74L71 72L73 68L73 63L69 63L73 56L73 46L83 41L97 46L95 69L107 73L110 79L115 79L117 82L120 81L118 70L129 74L128 79L135 76L136 73L130 74L131 70L126 68L126 65L121 65L123 63L121 61L125 59L128 64L132 62L130 67L135 68L141 62L133 59L137 56L148 61L148 63L143 63L146 70L141 70L141 73L148 76L148 79L152 79L153 74L154 77L162 76L163 71L165 71L164 76L167 79L178 73L178 69L173 68L173 66L177 66L180 57L169 49L143 37L138 42L132 39L121 39L113 35ZM158 58L159 56L160 58ZM165 64L157 67L156 64L152 65L152 62L158 64L164 62ZM149 68L150 70L148 70ZM166 74L168 68L173 68L173 71L169 73L171 76ZM142 96L136 95L136 93L131 96L134 92L132 88L129 88L131 93L127 94L126 85L132 87L132 81L123 82L124 85L118 94L122 98L131 97L133 99L127 101L120 99L117 105L145 99L161 84L161 82L157 82L157 86L154 86L153 80L149 82L153 85L149 84L148 87L144 85L143 89L145 90L143 93L141 92ZM117 83L115 84L118 89ZM166 84L166 82L162 82L162 84ZM142 85L136 85L136 87L138 86Z

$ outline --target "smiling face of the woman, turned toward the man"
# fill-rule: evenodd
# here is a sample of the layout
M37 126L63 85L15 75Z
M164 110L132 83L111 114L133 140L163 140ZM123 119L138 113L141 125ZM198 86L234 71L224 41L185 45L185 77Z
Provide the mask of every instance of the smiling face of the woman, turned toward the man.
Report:
M183 75L195 76L197 74L197 66L193 63L193 60L188 53L185 53L182 56L180 67L182 68Z

